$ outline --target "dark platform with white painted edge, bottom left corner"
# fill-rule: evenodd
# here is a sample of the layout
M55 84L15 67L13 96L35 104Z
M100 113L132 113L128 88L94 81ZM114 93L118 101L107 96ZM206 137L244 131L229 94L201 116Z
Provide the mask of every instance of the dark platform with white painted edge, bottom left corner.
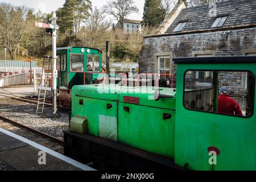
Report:
M0 171L95 171L95 169L0 128Z

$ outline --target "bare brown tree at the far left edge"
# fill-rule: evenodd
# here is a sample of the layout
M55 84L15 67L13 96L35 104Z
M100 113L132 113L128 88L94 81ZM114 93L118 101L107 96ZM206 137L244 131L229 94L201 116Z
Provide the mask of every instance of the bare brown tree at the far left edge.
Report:
M19 44L26 34L27 11L24 6L0 4L0 40L8 49L12 60L15 60Z

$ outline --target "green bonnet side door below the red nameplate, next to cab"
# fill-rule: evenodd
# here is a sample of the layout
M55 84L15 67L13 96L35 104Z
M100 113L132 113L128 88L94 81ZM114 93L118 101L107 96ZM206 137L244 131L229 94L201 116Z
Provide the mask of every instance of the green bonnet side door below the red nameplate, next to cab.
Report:
M123 107L129 107L130 113ZM172 118L164 120L164 113ZM174 158L174 131L174 110L122 102L118 105L118 142Z

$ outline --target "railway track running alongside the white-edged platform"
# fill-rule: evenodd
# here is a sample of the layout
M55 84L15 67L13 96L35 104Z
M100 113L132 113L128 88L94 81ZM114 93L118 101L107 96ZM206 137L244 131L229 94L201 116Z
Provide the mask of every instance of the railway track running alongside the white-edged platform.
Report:
M31 127L28 127L26 125L23 125L21 123L18 123L16 121L14 121L13 119L10 119L10 118L6 118L6 117L3 117L0 113L0 119L4 122L8 122L10 123L11 125L14 125L14 126L17 126L17 127L21 127L22 129L26 129L28 131L31 131L32 133L34 134L38 134L40 135L41 137L43 138L48 138L56 143L59 143L59 144L63 144L63 140L59 139L59 138L56 138L56 137L53 137L51 135L48 135L46 133L43 133L42 131L39 131L39 130L36 130L36 129L32 129Z

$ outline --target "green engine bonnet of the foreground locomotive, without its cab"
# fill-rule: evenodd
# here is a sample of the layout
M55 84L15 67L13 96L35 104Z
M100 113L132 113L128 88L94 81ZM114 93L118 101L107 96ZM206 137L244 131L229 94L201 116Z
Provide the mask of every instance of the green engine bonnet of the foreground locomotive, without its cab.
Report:
M155 101L156 90L159 88L119 85L73 86L72 115L78 114L88 118L88 133L95 136L100 135L99 115L115 116L118 122L118 142L174 158L175 100L170 98L166 102ZM170 88L160 90L164 94L175 94ZM124 96L138 97L139 104L124 103ZM79 105L81 99L84 100L84 105ZM107 104L112 104L113 107L106 109ZM130 113L123 110L123 107L130 107ZM164 120L163 114L171 114L172 118Z

